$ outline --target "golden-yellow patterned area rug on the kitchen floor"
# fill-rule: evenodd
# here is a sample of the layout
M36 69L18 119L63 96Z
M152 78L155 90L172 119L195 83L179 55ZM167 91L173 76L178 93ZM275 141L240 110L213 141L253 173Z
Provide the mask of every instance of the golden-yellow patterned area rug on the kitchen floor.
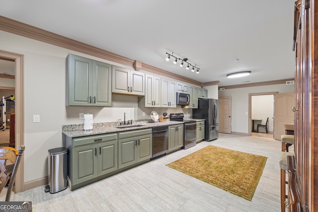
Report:
M251 201L266 160L209 145L167 166Z

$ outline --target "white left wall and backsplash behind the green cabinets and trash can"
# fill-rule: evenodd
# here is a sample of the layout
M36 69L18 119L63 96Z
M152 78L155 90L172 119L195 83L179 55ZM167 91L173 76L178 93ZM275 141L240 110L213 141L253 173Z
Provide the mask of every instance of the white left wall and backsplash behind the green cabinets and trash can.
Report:
M112 95L112 107L65 106L65 59L69 53L125 66L3 31L0 37L1 50L24 55L25 183L48 175L48 149L63 146L62 125L83 123L79 113L93 114L94 123L121 121L124 113L126 120L150 119L152 110L159 115L167 111L191 116L191 109L180 106L138 108L138 97L125 95ZM40 115L40 123L33 123L33 115Z

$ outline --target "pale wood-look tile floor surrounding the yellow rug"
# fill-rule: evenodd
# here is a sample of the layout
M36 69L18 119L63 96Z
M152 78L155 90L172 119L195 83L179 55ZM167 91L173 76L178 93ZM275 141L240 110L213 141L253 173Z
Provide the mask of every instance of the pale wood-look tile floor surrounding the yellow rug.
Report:
M268 157L252 201L165 166L207 145ZM220 134L74 191L49 194L41 186L11 201L32 201L34 212L279 212L280 151L281 142L271 138Z

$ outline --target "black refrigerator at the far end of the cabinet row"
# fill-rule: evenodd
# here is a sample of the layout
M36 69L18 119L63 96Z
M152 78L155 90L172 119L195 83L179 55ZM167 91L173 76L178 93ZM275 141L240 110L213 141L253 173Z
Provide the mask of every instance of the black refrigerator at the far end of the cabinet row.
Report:
M219 100L199 99L198 109L192 109L193 119L205 119L205 141L219 137Z

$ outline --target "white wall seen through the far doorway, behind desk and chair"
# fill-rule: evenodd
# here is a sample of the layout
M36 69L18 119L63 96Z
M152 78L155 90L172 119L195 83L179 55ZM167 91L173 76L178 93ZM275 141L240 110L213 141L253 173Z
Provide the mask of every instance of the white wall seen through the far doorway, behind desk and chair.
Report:
M267 117L267 131L274 132L274 95L251 96L251 119L262 120L261 124L265 125ZM254 125L256 130L256 123Z

